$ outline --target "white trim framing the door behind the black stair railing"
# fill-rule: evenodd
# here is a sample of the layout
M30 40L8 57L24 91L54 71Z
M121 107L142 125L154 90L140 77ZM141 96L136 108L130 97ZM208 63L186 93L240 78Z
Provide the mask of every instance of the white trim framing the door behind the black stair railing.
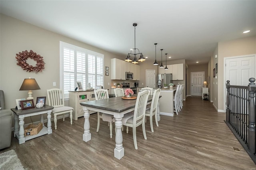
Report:
M254 64L254 67L256 66L256 54L250 54L250 55L239 55L239 56L234 56L234 57L224 57L224 62L223 62L223 72L224 72L224 75L223 75L223 86L224 86L224 89L223 89L223 106L224 108L223 109L226 109L226 97L227 97L227 94L226 94L226 60L227 59L232 59L232 58L242 58L242 57L251 57L251 56L254 56L254 60L255 60L255 64ZM255 75L256 75L256 69L255 69ZM248 83L249 84L249 83ZM226 112L226 111L225 111Z

